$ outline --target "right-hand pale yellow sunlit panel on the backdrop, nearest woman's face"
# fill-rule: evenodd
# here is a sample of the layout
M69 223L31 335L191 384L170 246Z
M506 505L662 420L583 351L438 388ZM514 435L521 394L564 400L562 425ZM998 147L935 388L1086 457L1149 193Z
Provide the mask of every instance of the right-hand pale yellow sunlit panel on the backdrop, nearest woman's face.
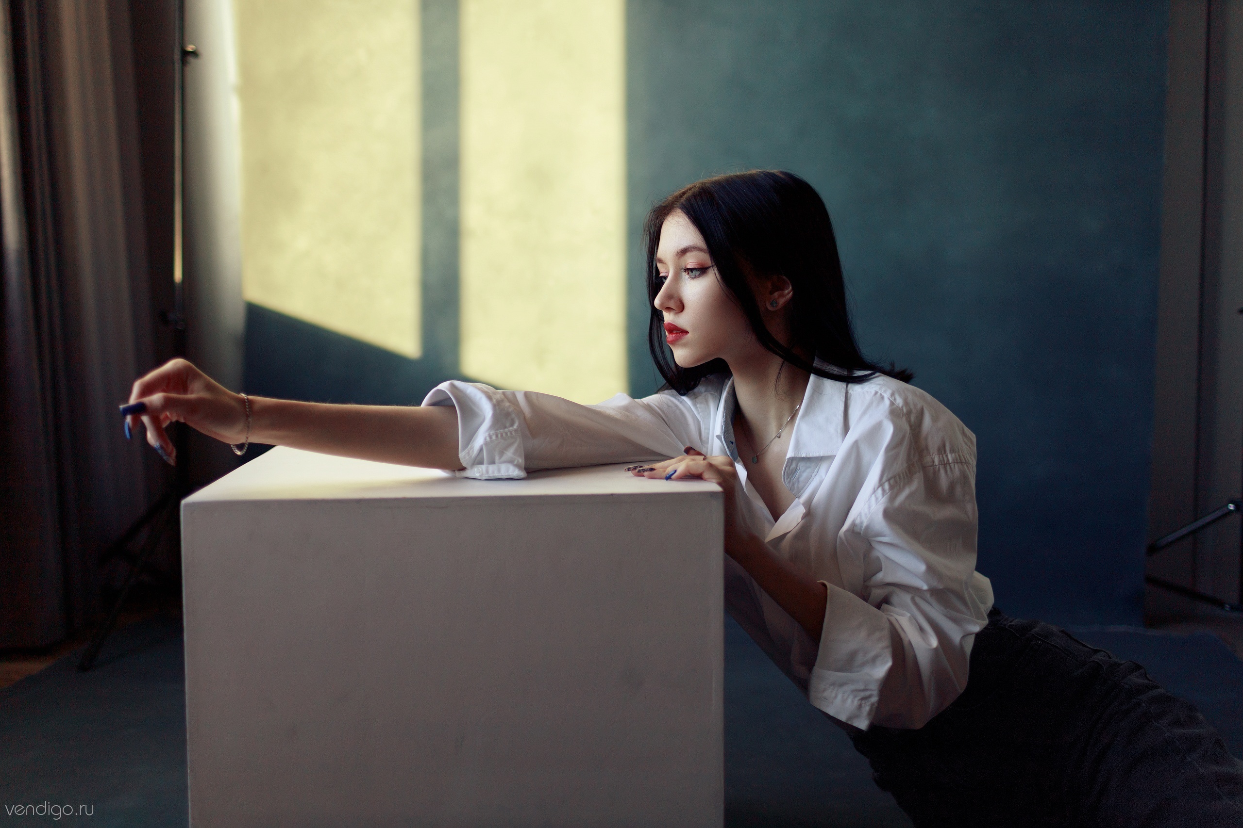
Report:
M626 390L623 0L462 0L461 367Z

